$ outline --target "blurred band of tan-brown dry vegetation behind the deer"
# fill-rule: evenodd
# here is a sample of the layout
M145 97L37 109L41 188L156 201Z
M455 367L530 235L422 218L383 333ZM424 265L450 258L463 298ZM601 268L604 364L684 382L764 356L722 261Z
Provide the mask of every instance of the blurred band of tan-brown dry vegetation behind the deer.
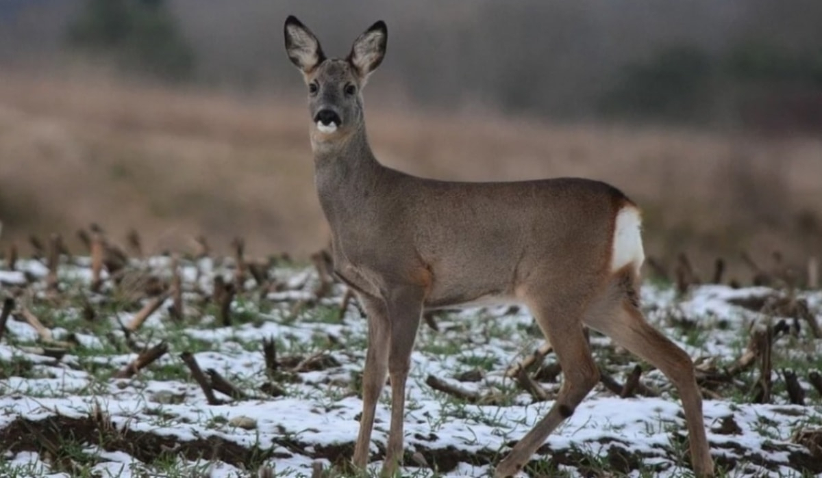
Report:
M407 172L614 183L643 206L649 254L663 261L687 251L707 274L742 250L822 255L818 138L370 111L377 156ZM3 74L2 241L96 222L123 241L136 227L146 253L193 250L204 234L218 250L242 236L250 255L304 257L327 241L306 120L298 99Z

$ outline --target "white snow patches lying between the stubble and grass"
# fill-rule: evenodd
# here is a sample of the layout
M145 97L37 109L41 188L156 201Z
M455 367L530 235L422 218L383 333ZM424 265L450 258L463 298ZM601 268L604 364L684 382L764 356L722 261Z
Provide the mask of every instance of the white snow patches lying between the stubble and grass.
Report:
M151 258L146 261L148 268L168 268L168 258ZM21 269L35 277L42 277L45 271L36 261L21 261ZM85 265L67 267L62 277L88 282L90 275ZM200 281L201 286L210 284L212 274L226 273L224 269L207 263L183 265L185 281ZM250 398L228 402L223 405L209 405L201 389L193 380L153 379L152 367L160 365L182 366L178 359L180 350L161 358L154 365L130 380L100 379L78 366L81 357L70 352L55 361L47 357L21 352L9 340L0 343L0 365L5 367L13 360L24 359L32 362L36 372L34 378L9 376L0 379L0 430L19 417L28 420L42 420L48 416L69 416L81 418L89 416L99 407L111 417L118 428L128 427L133 431L173 436L179 440L195 440L217 436L243 447L275 449L290 457L277 458L270 464L277 472L287 476L310 476L312 458L307 454L295 453L284 448L284 436L307 444L307 453L319 445L351 443L356 439L362 402L349 387L352 375L362 369L367 336L367 323L355 307L349 307L341 323L294 319L289 307L291 302L312 297L316 277L310 269L275 269L273 275L284 278L289 287L298 290L270 292L268 301L273 308L265 312L256 311L260 324L236 324L233 327L207 326L216 324L213 317L205 317L199 324L175 328L173 333L184 334L192 339L208 341L214 348L208 352L196 352L196 361L202 370L215 369L235 383L253 384L244 386ZM0 271L0 282L20 283L22 273ZM342 288L335 287L335 296L321 301L321 304L339 303ZM644 306L649 319L673 338L691 356L735 357L740 352L740 338L745 330L762 315L732 305L729 300L739 297L772 294L764 287L731 289L723 286L696 287L690 294L677 299L670 289L644 287ZM822 297L803 293L809 304L819 306ZM169 302L170 304L170 302ZM235 303L236 307L240 305ZM243 303L242 307L254 311L254 305ZM162 337L169 333L169 319L164 307L143 325L143 338ZM121 313L117 319L127 323L133 313ZM72 319L71 315L68 316ZM73 319L80 321L79 314ZM684 336L673 333L672 320L689 320L700 325L706 332L704 341L691 344ZM405 416L405 449L418 447L442 449L455 447L472 453L504 451L510 441L519 439L552 406L552 401L531 403L525 393L515 393L510 404L505 406L472 405L455 402L441 393L433 391L425 384L428 374L444 379L452 379L455 371L467 370L473 360L487 360L494 364L483 381L459 384L460 387L492 393L500 387L512 388L510 379L504 377L506 367L524 354L533 351L540 343L529 337L524 329L532 320L527 310L520 309L513 315L507 314L506 307L472 309L455 312L438 318L441 332L421 328L418 347L412 356L412 373L409 378L407 413ZM723 326L719 327L718 324ZM58 337L67 335L69 330L60 329ZM470 333L468 333L470 332ZM122 334L120 335L122 337ZM324 345L316 345L320 339L332 336L343 347L329 348L327 353L341 364L328 370L300 374L302 383L283 383L285 397L270 398L254 390L265 381L265 363L260 352L262 338L277 338L285 344L278 353L288 355L307 347L311 352L321 352ZM7 337L11 343L35 342L37 334L28 324L10 319ZM75 337L85 349L103 349L105 339L88 333L76 333ZM153 340L156 342L156 339ZM820 348L820 341L815 346ZM248 350L244 344L257 344ZM421 344L462 343L457 353L432 352L431 347ZM314 344L314 345L312 345ZM594 348L607 345L607 338L592 337ZM301 348L302 347L302 348ZM90 359L85 363L100 361L112 364L117 369L134 358L135 354L112 354ZM636 359L631 359L636 360ZM79 370L76 370L79 369ZM3 376L3 375L0 375ZM596 388L577 408L575 414L564 422L547 439L551 450L577 448L587 453L607 453L612 446L625 448L629 452L643 453L646 464L658 463L658 476L677 476L685 468L672 462L667 448L671 448L672 438L685 433L681 406L672 400L667 380L658 372L644 375L645 380L663 388L660 398L617 398ZM548 385L546 385L548 386ZM556 391L556 386L554 388ZM182 397L182 402L158 402L161 393L174 393ZM219 398L228 399L219 394ZM778 399L777 399L778 400ZM376 426L372 436L372 452L378 452L376 443L385 444L387 424L390 421L389 393L384 390L376 411ZM819 403L819 402L817 402ZM160 413L161 411L161 413ZM243 430L229 425L233 417L247 416L256 421L256 428ZM800 476L788 467L788 453L784 450L798 445L789 445L793 430L801 424L822 423L820 407L798 407L777 402L771 405L734 403L730 401L704 401L705 423L709 427L709 441L714 457L728 456L745 460L759 454L783 467L769 472L782 472L783 476ZM718 434L711 430L723 417L732 416L740 428L739 434ZM767 432L763 432L763 423ZM783 444L774 449L770 444ZM723 447L733 444L733 447ZM102 476L141 476L150 469L146 464L118 451L105 451L91 446L88 453L98 460L94 471ZM26 467L33 476L67 476L53 473L51 467L37 453L7 453L8 466ZM499 458L497 458L498 460ZM326 467L328 463L326 461ZM181 462L181 467L192 469L208 467L210 476L245 476L246 471L224 462ZM379 463L372 464L375 468ZM561 467L578 474L573 467ZM741 468L737 475L745 476L756 467ZM408 467L404 474L417 471ZM492 471L492 465L477 466L467 462L459 463L452 471L441 476L485 476ZM754 471L750 471L753 473ZM760 470L761 471L761 470ZM634 472L631 476L638 476Z

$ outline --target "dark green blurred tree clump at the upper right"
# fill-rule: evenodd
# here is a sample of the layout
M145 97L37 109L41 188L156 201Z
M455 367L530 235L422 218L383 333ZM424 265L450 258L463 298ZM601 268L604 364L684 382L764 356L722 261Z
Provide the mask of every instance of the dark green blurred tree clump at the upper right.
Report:
M761 40L713 55L692 45L663 48L622 67L600 107L611 117L820 131L822 48Z

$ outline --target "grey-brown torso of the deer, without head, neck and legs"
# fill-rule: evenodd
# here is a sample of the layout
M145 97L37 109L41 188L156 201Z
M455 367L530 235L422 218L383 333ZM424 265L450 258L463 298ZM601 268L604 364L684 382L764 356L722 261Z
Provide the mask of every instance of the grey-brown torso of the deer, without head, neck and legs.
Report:
M603 278L642 261L637 241L623 246L633 247L634 257L611 264L614 245L601 238L614 237L619 209L635 208L602 182L441 182L375 161L365 177L343 186L340 178L353 172L341 163L327 178L318 168L316 186L333 234L335 273L359 292L379 296L398 280L426 288L426 308L521 303L518 287L534 274L565 283L568 273ZM570 247L584 254L569 255Z

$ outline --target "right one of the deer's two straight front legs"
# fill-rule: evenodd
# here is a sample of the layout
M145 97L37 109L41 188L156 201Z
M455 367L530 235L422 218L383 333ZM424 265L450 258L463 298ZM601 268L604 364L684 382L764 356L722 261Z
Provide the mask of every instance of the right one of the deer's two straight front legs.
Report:
M425 291L420 287L398 287L386 301L390 320L388 373L391 379L391 426L386 446L383 476L392 476L403 459L405 381L411 368L411 352L423 314Z

